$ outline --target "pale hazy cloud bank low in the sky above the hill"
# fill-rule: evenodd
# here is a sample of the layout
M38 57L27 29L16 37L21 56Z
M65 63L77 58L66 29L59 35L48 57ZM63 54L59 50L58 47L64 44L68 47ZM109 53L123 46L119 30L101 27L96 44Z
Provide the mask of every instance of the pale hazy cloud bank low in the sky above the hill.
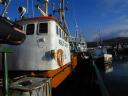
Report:
M97 30L98 29L98 30ZM112 24L97 28L89 41L99 38L99 31L102 39L115 37L128 37L128 16L121 16Z

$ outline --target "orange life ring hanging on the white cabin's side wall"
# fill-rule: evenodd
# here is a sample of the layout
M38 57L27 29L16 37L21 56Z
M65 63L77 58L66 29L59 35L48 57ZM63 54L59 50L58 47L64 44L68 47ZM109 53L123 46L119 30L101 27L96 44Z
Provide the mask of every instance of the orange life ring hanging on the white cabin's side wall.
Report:
M62 66L64 64L63 50L62 49L57 50L57 63L59 66Z

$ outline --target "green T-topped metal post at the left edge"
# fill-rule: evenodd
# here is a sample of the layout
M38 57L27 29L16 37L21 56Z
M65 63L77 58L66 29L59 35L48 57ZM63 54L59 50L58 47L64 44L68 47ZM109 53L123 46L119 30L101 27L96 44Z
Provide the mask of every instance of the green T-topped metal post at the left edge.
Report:
M1 47L0 53L1 53L1 59L2 59L2 93L3 96L8 96L8 64L7 64L7 53L13 52L11 48L7 47Z

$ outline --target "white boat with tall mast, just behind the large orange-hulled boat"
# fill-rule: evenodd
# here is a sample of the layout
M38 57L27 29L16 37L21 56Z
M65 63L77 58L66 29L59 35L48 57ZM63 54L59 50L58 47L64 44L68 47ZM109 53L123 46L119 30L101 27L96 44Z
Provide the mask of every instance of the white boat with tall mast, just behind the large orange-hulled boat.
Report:
M87 56L87 42L85 38L80 34L76 19L75 19L75 35L70 36L71 52L76 52L79 55L79 59L88 59Z

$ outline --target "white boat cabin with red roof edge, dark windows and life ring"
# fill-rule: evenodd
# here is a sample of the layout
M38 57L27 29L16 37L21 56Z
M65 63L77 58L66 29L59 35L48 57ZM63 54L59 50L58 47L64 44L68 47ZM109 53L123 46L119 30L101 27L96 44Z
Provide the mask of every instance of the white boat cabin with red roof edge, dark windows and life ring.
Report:
M16 52L11 56L15 60L10 70L54 70L71 62L68 33L56 19L35 17L18 23L26 32L26 40L12 46Z

